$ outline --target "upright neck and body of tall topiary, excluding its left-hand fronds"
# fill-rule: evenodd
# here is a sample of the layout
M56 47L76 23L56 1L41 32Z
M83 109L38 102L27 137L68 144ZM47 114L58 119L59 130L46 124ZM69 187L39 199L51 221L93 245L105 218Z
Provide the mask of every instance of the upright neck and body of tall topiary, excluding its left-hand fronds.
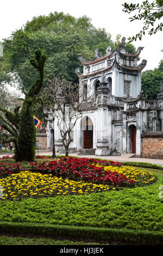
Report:
M45 61L46 56L42 54L41 50L36 50L34 58L30 59L30 64L39 71L40 78L30 86L20 111L20 126L17 137L18 150L15 152L16 161L34 161L35 158L36 128L33 118L33 106L37 100L36 96L43 86Z

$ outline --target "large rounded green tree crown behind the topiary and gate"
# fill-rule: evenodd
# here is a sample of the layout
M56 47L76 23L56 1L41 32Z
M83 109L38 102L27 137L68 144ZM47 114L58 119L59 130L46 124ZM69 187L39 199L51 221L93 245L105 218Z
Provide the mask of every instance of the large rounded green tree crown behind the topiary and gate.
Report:
M14 79L17 79L21 90L27 92L37 78L36 70L28 65L34 50L43 48L47 55L46 86L54 76L78 83L74 72L77 66L82 68L78 58L95 58L94 49L99 44L103 44L100 47L102 53L105 53L105 46L113 44L105 29L93 27L86 16L76 19L69 14L55 12L34 17L23 28L13 32L11 38L4 39L4 60L8 63L8 70L14 72Z

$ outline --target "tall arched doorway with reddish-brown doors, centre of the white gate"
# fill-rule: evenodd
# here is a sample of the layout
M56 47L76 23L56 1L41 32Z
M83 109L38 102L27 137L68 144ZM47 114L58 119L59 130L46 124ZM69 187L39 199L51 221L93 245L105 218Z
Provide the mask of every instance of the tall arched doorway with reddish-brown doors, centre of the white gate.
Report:
M83 148L93 148L93 124L89 117L86 117L83 122Z

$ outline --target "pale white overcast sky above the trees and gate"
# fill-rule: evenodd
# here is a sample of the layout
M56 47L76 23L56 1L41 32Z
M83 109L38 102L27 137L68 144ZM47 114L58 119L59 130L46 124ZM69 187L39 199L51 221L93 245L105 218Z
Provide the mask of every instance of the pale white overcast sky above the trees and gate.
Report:
M143 21L130 22L131 15L123 13L122 4L138 3L137 0L4 0L0 5L0 41L8 38L11 32L21 28L27 21L32 20L34 16L48 15L54 11L63 11L65 14L81 17L86 15L92 20L96 28L105 28L115 41L116 34L125 36L135 35L142 28ZM144 46L141 52L141 60L146 59L147 65L144 70L158 67L163 59L163 32L149 36L146 34L142 40L134 41L135 47Z

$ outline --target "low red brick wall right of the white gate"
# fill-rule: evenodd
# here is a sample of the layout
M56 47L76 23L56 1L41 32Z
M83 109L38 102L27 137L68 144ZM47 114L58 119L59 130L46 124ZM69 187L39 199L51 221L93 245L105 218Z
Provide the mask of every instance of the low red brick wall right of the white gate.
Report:
M163 159L163 132L147 132L142 134L142 157Z

